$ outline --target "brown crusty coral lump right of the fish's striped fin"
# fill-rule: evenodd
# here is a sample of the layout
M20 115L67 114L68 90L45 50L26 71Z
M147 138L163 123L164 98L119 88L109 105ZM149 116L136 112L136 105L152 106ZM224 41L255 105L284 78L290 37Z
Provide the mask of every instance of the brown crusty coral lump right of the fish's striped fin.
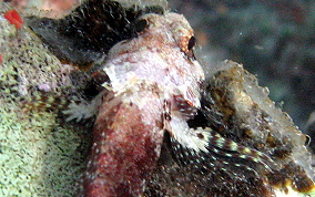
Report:
M292 182L288 187L298 191L311 188L314 193L315 173L311 163L312 155L305 146L308 141L306 135L294 125L286 113L275 106L268 98L268 90L260 87L254 75L236 63L226 64L231 68L214 74L205 91L206 116L214 122L213 112L221 114L222 117L216 120L220 124L215 123L215 127L227 128L222 131L224 136L255 147L272 157L282 168L278 169L280 174L285 174L282 175L284 179ZM210 104L209 97L213 97L214 104ZM303 170L297 173L299 168ZM273 176L280 175L275 173L268 179L273 179ZM304 185L301 179L309 185Z

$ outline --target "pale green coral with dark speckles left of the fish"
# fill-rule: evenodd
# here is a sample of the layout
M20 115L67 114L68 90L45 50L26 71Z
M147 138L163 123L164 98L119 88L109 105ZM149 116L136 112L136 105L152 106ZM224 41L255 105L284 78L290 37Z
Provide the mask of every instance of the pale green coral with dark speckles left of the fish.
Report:
M84 167L88 126L61 125L52 104L60 95L75 97L73 69L27 27L10 24L10 9L0 4L0 196L72 196Z

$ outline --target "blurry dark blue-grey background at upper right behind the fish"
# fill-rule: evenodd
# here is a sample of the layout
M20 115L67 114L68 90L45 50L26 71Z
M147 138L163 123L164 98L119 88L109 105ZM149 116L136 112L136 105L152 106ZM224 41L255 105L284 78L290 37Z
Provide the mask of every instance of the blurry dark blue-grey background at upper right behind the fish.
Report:
M191 22L206 66L243 63L306 128L315 108L315 1L169 0Z

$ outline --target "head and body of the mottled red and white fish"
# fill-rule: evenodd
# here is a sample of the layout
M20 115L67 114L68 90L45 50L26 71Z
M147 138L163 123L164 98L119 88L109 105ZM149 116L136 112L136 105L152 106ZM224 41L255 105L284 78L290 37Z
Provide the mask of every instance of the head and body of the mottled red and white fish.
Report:
M145 14L136 38L115 44L103 70L111 93L103 98L93 131L84 195L141 196L156 165L164 131L182 145L193 143L186 120L200 107L204 72L194 59L195 39L177 13ZM203 141L202 141L203 142Z

